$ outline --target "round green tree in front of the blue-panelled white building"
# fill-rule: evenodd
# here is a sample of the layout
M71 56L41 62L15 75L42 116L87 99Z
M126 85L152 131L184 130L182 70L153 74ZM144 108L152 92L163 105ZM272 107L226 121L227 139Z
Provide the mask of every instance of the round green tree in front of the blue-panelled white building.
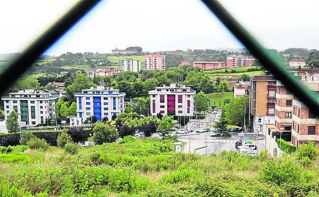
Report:
M110 126L109 124L103 124L99 121L95 123L93 133L93 141L99 145L103 143L115 142L119 137L115 127Z

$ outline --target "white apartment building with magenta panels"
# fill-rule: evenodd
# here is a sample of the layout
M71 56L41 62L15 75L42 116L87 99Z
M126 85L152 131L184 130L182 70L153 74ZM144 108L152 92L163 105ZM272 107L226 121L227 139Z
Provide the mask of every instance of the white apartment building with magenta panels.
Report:
M159 113L173 116L193 116L194 114L196 91L191 90L190 87L185 85L177 87L172 83L170 86L155 87L155 90L149 91L148 94L152 116Z

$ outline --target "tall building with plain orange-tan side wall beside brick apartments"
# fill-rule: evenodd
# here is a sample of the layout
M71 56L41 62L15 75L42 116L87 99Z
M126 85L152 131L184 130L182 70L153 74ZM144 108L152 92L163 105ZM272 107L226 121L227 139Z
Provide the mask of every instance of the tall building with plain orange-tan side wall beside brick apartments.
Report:
M275 124L276 79L271 75L255 75L250 79L249 131L261 132Z

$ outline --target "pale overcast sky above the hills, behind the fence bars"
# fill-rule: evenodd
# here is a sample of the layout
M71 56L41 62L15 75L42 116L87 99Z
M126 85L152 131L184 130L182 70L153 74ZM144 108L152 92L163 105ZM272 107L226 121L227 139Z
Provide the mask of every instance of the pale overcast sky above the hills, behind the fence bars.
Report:
M0 1L0 54L21 52L76 1ZM224 0L221 3L266 48L318 49L317 1ZM105 0L46 54L242 48L198 0Z

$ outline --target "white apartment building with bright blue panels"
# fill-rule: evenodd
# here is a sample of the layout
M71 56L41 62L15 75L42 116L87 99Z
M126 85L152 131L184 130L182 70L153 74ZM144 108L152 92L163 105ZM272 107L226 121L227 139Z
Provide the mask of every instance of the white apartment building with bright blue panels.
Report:
M90 89L83 89L81 93L74 94L77 102L78 124L89 120L95 116L98 121L111 120L113 115L124 112L125 93L120 93L119 89L105 88L97 86Z

